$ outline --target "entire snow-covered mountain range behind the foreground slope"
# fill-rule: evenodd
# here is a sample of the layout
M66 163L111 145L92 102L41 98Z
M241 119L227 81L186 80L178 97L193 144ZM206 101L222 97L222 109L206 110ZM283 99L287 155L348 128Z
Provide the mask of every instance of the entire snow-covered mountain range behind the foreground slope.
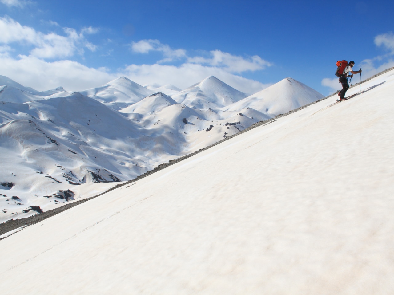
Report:
M160 91L157 91L160 90ZM126 77L38 92L0 76L0 222L81 197L323 98L291 78L252 96L214 76L180 90Z

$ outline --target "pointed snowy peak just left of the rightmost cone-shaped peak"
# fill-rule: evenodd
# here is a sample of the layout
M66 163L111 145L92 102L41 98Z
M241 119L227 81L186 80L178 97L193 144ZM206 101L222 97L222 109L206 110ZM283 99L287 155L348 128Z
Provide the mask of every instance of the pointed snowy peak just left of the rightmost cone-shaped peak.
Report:
M183 103L193 109L220 109L242 100L246 94L230 87L214 76L173 95L178 103Z

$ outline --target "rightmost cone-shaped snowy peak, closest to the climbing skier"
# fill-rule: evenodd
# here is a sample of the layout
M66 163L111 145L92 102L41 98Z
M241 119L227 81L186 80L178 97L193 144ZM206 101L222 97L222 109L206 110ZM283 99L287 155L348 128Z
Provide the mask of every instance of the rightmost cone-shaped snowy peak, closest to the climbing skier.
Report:
M324 96L307 85L292 78L286 78L278 83L257 92L232 105L224 107L224 111L236 111L251 107L271 117L284 114L292 109L322 99Z

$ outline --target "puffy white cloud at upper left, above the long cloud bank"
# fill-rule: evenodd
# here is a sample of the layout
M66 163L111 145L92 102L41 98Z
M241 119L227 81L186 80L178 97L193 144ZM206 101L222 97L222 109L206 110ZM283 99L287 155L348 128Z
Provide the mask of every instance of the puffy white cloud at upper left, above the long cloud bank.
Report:
M28 26L22 26L19 22L9 18L0 17L0 44L10 44L19 42L28 43L35 46L30 54L40 58L64 58L74 55L75 52L83 53L83 48L91 51L96 50L96 46L88 42L84 33L96 33L97 29L83 28L81 33L71 28L64 28L66 36L56 33L43 34ZM82 48L82 49L81 49Z

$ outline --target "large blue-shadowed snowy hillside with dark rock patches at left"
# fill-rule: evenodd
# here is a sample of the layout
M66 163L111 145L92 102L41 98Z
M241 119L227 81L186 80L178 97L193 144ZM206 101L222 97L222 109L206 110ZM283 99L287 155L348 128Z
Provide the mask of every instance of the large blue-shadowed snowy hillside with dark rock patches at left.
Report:
M152 155L154 146L177 145L79 93L23 104L2 102L0 118L0 182L8 187L0 198L0 220L31 215L23 210L32 206L48 210L51 203L68 201L43 197L73 192L78 184L133 179L179 153ZM9 201L11 197L17 202Z

